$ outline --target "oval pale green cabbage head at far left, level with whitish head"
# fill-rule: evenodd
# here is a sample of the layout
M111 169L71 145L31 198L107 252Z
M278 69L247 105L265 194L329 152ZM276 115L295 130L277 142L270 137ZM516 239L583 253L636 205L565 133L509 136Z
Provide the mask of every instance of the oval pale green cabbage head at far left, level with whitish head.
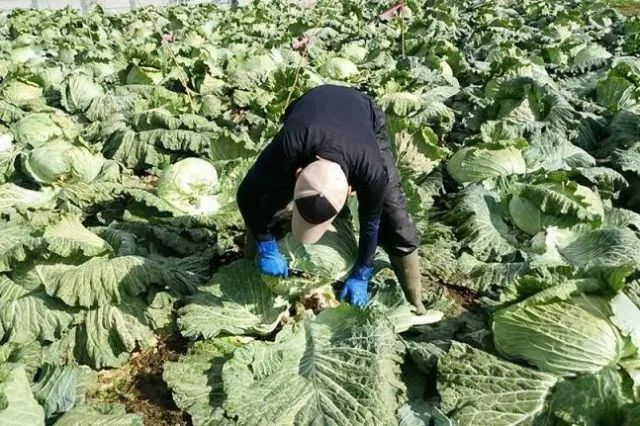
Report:
M38 146L22 158L27 175L45 185L91 182L100 174L104 163L101 154L61 139Z

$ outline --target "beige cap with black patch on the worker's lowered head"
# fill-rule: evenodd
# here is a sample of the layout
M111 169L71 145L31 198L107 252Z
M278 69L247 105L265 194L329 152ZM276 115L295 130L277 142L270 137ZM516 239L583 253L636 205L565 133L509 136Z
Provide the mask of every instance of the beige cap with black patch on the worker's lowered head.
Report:
M330 228L349 195L349 183L339 164L318 159L305 167L293 191L293 236L316 243Z

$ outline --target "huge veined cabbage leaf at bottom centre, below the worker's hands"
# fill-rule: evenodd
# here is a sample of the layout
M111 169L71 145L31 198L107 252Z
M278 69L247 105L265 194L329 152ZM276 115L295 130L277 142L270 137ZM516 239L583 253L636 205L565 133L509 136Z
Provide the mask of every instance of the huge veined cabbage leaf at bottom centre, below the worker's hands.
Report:
M223 367L224 408L246 425L393 425L402 387L395 335L342 306L237 349Z

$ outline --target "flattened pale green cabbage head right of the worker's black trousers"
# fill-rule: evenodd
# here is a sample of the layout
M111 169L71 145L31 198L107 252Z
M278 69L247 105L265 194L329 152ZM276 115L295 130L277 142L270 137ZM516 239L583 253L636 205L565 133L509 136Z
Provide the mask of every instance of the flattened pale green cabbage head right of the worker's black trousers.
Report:
M487 178L526 173L527 165L522 152L514 147L485 149L466 147L453 154L447 171L462 184L479 182Z

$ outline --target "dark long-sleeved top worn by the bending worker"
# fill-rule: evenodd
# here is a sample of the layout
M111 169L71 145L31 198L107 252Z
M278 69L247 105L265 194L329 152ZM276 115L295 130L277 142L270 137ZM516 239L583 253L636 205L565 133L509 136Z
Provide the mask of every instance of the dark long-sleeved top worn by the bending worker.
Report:
M373 101L357 90L323 85L296 99L283 126L258 156L238 191L238 205L257 240L271 238L276 212L293 198L295 172L321 157L338 163L356 191L359 205L358 264L373 262L388 182L376 142L384 118Z

